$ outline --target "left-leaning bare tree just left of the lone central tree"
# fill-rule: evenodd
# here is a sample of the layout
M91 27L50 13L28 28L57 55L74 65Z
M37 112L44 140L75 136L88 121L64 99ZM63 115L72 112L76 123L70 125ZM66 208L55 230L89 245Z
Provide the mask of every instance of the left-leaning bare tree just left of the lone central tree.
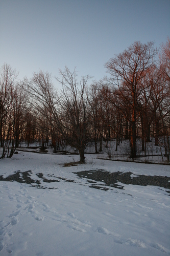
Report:
M51 74L40 71L34 73L31 81L27 81L30 104L34 108L37 120L37 131L41 140L41 150L44 150L45 143L51 137L55 137L54 123L52 123L52 109L57 100L57 92L52 83ZM57 133L57 131L56 131Z

